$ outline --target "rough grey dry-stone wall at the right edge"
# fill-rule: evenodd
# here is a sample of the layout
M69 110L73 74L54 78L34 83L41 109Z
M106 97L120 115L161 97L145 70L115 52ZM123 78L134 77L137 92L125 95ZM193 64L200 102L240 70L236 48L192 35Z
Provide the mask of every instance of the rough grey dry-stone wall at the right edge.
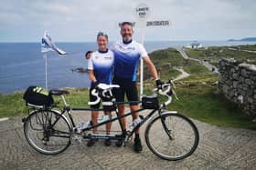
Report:
M220 60L219 89L230 101L240 105L245 114L256 117L256 65L234 59Z

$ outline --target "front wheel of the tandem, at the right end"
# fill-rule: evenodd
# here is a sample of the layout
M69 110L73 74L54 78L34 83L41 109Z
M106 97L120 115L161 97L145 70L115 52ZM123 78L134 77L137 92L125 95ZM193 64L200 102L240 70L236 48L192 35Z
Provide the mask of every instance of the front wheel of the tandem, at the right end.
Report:
M186 116L165 112L146 126L145 141L155 155L176 161L193 154L199 135L196 125Z

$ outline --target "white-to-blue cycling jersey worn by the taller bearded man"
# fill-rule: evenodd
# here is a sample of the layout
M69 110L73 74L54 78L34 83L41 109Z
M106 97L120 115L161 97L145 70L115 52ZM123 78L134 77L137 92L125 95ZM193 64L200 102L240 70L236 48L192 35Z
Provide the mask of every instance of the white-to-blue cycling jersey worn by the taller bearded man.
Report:
M135 41L129 44L117 42L112 46L112 51L114 53L114 76L135 82L139 59L147 57L144 46Z

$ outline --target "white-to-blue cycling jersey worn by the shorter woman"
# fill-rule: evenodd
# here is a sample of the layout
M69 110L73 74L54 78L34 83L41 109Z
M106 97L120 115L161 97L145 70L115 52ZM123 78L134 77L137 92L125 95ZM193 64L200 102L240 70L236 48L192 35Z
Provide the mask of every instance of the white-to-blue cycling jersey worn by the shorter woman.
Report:
M113 53L108 50L105 53L96 51L91 54L88 61L88 69L93 70L97 82L112 84Z

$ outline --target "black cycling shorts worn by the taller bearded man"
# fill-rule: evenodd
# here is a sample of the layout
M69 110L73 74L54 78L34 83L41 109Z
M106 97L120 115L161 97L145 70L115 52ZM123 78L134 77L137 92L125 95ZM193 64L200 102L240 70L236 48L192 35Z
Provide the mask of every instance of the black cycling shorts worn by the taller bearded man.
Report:
M136 86L136 82L133 82L132 80L126 80L122 78L113 78L112 81L113 85L120 85L119 88L113 88L113 95L116 98L116 102L124 102L124 95L126 94L126 97L129 102L134 101L134 103L130 105L138 105L136 101L138 101L138 90Z

